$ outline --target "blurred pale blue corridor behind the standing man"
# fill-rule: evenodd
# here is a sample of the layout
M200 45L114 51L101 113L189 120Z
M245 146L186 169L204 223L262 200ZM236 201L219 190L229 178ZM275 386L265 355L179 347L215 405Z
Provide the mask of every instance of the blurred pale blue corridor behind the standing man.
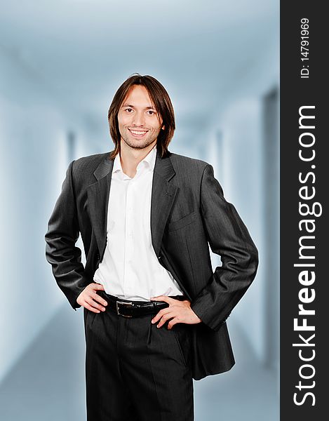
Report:
M69 162L112 149L134 72L166 87L169 150L213 165L260 251L227 322L236 365L194 382L196 420L278 420L278 30L276 0L0 0L1 421L86 420L83 313L44 234Z

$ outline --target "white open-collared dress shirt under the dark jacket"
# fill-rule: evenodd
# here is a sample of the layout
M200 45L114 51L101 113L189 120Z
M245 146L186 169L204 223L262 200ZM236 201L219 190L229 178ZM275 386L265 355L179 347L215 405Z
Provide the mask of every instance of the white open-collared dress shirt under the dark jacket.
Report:
M126 300L182 295L177 281L160 265L151 237L151 194L156 146L137 165L133 178L113 163L107 211L107 246L93 280Z

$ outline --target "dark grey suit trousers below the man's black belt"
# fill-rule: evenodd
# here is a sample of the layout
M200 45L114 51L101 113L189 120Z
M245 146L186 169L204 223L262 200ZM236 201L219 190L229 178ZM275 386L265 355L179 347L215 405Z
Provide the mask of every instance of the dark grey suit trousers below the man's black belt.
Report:
M194 420L192 325L157 328L154 314L108 308L83 315L88 421Z

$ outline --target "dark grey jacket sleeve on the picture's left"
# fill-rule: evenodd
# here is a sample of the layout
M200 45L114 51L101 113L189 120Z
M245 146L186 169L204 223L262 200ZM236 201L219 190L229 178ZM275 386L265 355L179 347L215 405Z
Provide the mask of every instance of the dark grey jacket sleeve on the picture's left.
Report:
M81 307L76 298L88 285L88 281L84 279L81 250L75 246L79 238L79 222L72 180L73 163L74 161L67 168L62 192L48 222L45 239L46 259L52 266L55 280L70 305L76 310Z

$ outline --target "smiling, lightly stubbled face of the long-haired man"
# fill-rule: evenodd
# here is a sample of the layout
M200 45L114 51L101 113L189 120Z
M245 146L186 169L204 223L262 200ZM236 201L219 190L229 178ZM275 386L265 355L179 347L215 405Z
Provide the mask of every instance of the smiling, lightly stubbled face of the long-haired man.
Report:
M145 86L134 85L130 89L119 109L118 122L121 142L126 142L129 147L143 149L156 143L162 119Z

